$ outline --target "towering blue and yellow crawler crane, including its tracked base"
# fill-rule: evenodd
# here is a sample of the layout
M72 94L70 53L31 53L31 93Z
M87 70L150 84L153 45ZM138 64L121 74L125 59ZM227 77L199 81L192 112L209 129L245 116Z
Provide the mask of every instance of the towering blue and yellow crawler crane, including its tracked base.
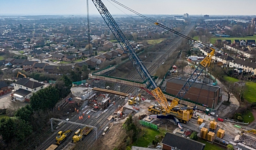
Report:
M155 118L174 118L175 120L178 120L182 123L187 123L191 117L193 116L193 113L197 106L182 106L180 104L180 100L184 98L184 95L187 93L187 91L191 88L192 84L197 80L197 78L202 74L203 70L207 71L210 70L211 67L210 64L212 64L212 57L214 56L215 49L207 46L204 43L198 42L191 37L188 37L186 35L183 35L182 33L179 33L175 31L174 29L171 29L169 27L166 27L165 25L158 23L136 11L134 11L131 8L128 8L127 6L117 2L116 0L110 0L121 7L128 9L129 11L135 13L136 15L139 15L140 17L146 19L147 21L166 29L167 31L170 31L176 35L179 35L181 37L184 37L185 39L188 39L192 41L195 44L200 44L203 47L208 48L211 50L209 54L200 62L197 67L195 68L195 71L189 76L185 84L182 86L181 90L178 92L178 94L174 97L174 99L170 102L167 101L165 95L161 91L161 89L158 87L157 83L153 79L153 77L148 72L147 68L144 66L142 60L140 60L139 56L136 54L135 50L132 48L131 44L129 43L129 40L125 37L124 33L121 31L121 28L118 26L106 6L103 4L102 0L92 0L93 4L97 8L98 12L102 16L105 23L108 25L110 31L113 33L114 37L116 37L117 42L122 46L124 53L127 54L128 58L131 60L133 66L138 71L140 77L143 79L144 82L146 82L147 88L143 88L146 92L154 96L154 98L158 101L159 106L150 106L148 108L148 111L155 112L157 114L161 115L155 115ZM177 118L176 118L177 117Z

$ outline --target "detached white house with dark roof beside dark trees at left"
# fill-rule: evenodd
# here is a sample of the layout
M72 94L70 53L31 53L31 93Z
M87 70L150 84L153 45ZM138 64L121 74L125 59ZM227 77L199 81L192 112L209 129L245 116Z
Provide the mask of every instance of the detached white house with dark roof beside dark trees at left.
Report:
M20 102L25 102L30 99L30 96L45 88L45 84L39 83L37 80L29 79L29 78L22 78L17 82L14 82L14 94L12 100L19 100Z

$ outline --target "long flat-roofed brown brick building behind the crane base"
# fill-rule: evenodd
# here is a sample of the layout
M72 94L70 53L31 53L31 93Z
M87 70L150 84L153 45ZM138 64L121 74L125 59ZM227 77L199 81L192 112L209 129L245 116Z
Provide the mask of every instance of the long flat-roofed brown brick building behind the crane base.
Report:
M167 80L166 92L172 95L177 95L185 82L185 80L175 78ZM203 106L209 108L215 108L222 99L220 90L220 87L217 86L193 83L192 87L183 98L203 104Z

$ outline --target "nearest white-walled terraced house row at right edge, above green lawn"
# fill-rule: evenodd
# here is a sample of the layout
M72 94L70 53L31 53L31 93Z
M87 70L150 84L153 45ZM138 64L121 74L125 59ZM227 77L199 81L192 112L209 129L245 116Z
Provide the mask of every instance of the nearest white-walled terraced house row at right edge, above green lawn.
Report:
M237 69L238 73L246 72L249 74L254 75L256 73L256 63L252 61L247 61L245 59L234 59L231 62L229 62L229 67L234 67ZM235 69L235 70L236 70ZM239 71L238 71L239 69ZM243 71L241 71L241 69Z

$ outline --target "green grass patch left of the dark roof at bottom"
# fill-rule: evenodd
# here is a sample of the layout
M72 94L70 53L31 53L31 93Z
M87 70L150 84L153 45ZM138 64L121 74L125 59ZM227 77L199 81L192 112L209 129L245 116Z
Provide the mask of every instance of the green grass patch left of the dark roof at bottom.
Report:
M136 144L136 141L133 142L132 145L127 146L127 150L131 150L132 146L147 147L149 143L152 143L152 141L155 140L156 135L164 136L163 133L160 133L157 130L146 128L146 133L144 135L144 139L143 139L143 136L140 137L138 139L138 143Z

